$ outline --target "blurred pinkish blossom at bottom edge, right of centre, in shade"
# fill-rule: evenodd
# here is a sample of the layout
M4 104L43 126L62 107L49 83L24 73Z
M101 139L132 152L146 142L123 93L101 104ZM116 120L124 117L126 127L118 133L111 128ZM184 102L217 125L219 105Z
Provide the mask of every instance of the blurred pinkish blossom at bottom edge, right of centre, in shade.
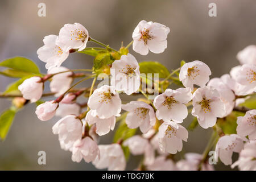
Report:
M179 160L176 166L180 171L198 171L199 168L201 171L213 171L213 166L208 162L202 163L200 166L201 160L203 160L203 155L187 153L185 159Z

